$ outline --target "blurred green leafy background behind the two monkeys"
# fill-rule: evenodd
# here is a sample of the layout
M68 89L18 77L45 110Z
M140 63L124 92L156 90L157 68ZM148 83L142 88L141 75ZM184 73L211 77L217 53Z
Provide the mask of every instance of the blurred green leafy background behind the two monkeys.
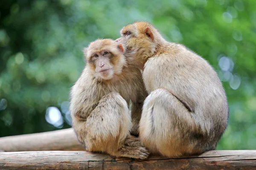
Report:
M135 20L207 59L227 92L217 149L256 149L255 0L1 0L0 137L70 126L82 49Z

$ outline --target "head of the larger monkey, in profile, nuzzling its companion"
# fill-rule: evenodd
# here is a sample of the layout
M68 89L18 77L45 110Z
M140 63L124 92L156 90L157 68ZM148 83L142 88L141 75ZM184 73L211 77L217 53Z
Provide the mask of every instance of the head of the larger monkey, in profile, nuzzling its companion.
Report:
M134 22L124 26L120 31L121 37L115 41L125 48L125 57L133 57L139 67L154 55L160 33L148 22Z

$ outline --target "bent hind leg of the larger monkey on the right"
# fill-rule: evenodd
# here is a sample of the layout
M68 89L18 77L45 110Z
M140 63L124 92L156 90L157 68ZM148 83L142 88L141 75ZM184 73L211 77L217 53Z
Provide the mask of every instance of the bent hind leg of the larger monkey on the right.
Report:
M192 114L174 95L157 89L145 99L140 120L140 138L152 153L177 157L201 153L199 141L191 136L200 131Z

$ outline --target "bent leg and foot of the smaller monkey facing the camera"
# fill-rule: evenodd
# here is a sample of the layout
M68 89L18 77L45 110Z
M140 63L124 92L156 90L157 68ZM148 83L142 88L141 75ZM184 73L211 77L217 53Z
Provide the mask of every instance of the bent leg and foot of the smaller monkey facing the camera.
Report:
M76 129L79 129L77 134L87 151L100 151L112 156L136 159L145 159L148 156L148 151L141 144L125 145L136 145L138 140L132 139L129 134L131 116L125 99L118 93L103 97L87 120L80 123L76 125Z

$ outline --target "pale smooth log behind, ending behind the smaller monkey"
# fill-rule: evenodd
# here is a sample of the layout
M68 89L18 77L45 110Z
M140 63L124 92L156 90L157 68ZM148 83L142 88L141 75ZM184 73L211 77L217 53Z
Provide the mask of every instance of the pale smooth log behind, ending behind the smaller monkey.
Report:
M0 150L6 152L38 150L84 150L73 128L0 138Z

